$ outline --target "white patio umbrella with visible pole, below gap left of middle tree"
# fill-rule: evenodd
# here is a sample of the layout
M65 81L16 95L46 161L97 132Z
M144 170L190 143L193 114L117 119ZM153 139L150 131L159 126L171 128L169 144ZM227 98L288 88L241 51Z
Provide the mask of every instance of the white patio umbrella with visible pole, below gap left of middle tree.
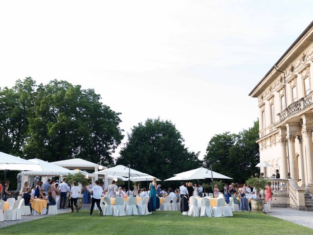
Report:
M112 175L112 176L123 176L128 177L128 194L130 190L130 180L131 177L136 176L145 176L148 174L142 173L140 171L134 170L130 168L130 165L116 165L114 167L110 167L104 170L96 171L94 174L101 174L101 175Z

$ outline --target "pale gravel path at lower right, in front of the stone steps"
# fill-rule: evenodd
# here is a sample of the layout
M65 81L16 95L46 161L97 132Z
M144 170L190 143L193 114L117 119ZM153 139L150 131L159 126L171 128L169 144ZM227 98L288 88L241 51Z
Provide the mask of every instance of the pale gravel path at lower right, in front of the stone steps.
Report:
M298 211L290 208L272 207L272 212L268 213L268 215L313 229L312 211Z

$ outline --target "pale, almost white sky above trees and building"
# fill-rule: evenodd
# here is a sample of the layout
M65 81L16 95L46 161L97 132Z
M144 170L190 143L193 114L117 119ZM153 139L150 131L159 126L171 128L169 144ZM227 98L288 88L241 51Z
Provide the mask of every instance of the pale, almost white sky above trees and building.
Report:
M203 158L214 135L253 125L249 92L312 16L313 0L1 1L0 87L94 89L125 136L169 119Z

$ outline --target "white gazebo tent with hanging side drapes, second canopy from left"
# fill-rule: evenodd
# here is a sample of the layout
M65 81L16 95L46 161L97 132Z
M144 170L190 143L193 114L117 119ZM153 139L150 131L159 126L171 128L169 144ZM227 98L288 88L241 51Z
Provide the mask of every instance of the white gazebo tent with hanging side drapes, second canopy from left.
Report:
M24 183L27 181L29 183L29 186L32 186L34 177L36 175L42 176L41 180L45 182L47 181L48 178L52 178L53 176L63 177L69 173L75 174L75 172L72 172L71 170L67 168L45 162L41 159L34 158L34 159L29 159L27 161L33 164L39 164L42 170L41 171L37 171L37 170L22 171L22 185L24 185Z

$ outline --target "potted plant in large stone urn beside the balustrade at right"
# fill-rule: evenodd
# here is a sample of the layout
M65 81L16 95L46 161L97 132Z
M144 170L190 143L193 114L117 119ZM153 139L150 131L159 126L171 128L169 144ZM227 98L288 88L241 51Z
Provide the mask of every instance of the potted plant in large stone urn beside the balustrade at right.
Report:
M246 185L256 188L256 195L258 196L258 191L261 189L265 189L268 181L265 180L263 177L251 177L248 180L246 180ZM261 212L264 207L264 198L251 198L251 207L253 211Z

